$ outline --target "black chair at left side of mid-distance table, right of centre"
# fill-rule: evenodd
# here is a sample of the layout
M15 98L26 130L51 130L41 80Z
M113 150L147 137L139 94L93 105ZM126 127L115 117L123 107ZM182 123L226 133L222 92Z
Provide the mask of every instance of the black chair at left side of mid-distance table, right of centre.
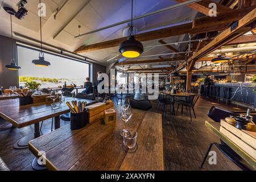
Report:
M164 117L166 117L166 106L170 105L172 113L175 115L175 109L174 109L174 101L172 101L172 96L166 94L166 93L159 93L158 96L158 105L156 106L156 113L158 113L160 105L163 105L164 109Z

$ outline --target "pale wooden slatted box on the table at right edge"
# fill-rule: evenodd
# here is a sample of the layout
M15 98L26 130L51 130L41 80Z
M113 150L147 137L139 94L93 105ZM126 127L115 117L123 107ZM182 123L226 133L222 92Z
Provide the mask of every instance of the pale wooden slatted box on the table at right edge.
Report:
M256 132L239 130L224 120L221 120L220 132L252 158L256 159Z

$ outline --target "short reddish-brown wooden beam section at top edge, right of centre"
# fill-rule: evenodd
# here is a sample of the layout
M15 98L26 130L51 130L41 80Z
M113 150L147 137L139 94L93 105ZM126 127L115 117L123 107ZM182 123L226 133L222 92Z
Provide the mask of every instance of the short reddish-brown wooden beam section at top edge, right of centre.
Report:
M186 2L187 0L175 0L175 1L181 3L181 2ZM200 13L208 16L209 11L210 11L209 4L212 2L213 1L210 1L210 0L203 0L200 2L192 3L187 6L193 10L199 11ZM214 2L214 3L216 3L216 2ZM217 5L217 13L224 13L224 12L228 12L228 11L232 10L229 7L221 5L219 3L216 3L216 5Z

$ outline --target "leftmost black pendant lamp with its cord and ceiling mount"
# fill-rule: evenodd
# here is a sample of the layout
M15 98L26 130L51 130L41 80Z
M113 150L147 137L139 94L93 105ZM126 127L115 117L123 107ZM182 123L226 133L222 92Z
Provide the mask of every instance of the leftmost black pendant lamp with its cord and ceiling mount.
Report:
M10 7L3 7L3 9L10 14L10 18L11 16L15 15L16 12L14 9L10 8ZM14 50L13 50L13 20L11 18L11 51L12 51L12 54L11 54L11 63L9 65L6 65L5 67L7 69L10 69L10 70L14 70L14 71L17 71L20 69L20 67L18 65L16 65L15 63L15 60L14 60Z

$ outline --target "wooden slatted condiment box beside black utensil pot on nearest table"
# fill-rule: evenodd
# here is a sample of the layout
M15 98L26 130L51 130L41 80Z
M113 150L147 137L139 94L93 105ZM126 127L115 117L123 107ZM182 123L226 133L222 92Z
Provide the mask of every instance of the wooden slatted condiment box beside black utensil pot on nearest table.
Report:
M113 106L113 102L109 104L99 102L90 106L86 106L85 108L88 110L87 115L89 123L98 121L98 119L104 119L104 110L110 109Z

